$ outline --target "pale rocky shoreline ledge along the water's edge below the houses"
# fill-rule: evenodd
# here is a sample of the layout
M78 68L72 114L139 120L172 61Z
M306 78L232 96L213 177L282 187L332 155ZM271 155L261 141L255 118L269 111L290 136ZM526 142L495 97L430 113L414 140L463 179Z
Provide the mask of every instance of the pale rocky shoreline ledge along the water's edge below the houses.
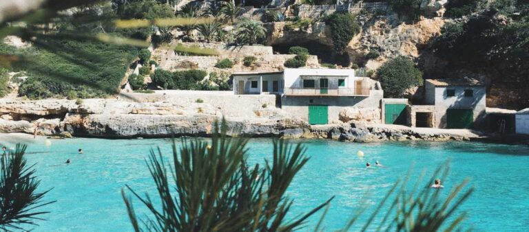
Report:
M470 130L409 128L351 120L311 126L273 106L274 96L137 94L113 99L0 100L0 132L24 132L53 137L208 137L225 118L229 134L251 137L335 139L340 141L448 141L479 138ZM185 96L185 97L184 97ZM196 100L200 98L200 101ZM230 98L237 97L238 104ZM200 103L199 103L200 102ZM266 106L266 107L265 107ZM37 126L38 125L38 126Z

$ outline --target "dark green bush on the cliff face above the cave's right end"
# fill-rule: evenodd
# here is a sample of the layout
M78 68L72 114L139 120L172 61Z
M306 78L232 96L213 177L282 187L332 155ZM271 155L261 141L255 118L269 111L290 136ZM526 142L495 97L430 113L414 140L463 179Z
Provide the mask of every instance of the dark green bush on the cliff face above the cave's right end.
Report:
M351 39L360 32L355 15L350 13L333 13L326 22L331 29L331 37L336 52L342 54Z

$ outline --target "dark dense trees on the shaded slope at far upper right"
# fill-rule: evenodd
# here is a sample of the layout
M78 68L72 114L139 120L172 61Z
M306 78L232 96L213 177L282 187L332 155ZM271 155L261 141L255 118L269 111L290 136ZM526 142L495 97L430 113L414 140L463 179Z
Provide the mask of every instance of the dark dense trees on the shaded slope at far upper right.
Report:
M434 54L446 60L450 71L486 76L493 95L504 106L529 106L529 5L515 1L492 4L467 20L446 23L433 43ZM464 76L459 76L463 78ZM510 89L508 95L497 89Z

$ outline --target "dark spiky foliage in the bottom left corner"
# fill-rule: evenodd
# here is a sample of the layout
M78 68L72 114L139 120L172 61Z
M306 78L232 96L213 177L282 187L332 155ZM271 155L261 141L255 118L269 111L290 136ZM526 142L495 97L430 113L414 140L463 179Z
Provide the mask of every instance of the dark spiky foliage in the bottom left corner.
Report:
M48 211L35 211L54 201L43 202L46 190L37 192L41 181L35 177L33 166L27 165L23 155L26 146L17 144L14 152L6 150L0 158L0 229L22 230L21 224L35 225L34 220Z

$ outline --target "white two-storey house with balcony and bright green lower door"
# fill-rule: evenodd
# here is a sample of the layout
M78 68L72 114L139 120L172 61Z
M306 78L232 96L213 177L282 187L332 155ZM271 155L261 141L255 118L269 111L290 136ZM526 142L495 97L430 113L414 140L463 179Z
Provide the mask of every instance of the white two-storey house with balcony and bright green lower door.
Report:
M340 121L346 108L362 108L355 112L370 113L380 121L380 83L370 78L355 77L354 69L284 69L272 73L234 73L235 94L269 94L281 96L281 107L310 124Z

